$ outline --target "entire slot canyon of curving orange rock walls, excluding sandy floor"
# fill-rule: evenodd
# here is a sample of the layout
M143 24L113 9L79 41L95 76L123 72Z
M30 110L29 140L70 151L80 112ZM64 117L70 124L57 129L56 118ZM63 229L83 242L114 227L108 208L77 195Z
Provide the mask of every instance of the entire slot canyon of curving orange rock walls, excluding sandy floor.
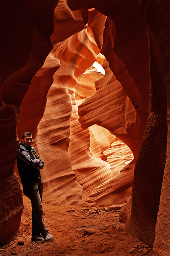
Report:
M45 216L96 209L111 216L109 229L117 214L118 236L150 248L130 253L169 256L169 0L2 0L0 8L0 253L11 255L4 248L30 207L16 165L29 131L45 163ZM107 211L113 205L123 207ZM37 255L127 256L133 246L127 254L49 247Z

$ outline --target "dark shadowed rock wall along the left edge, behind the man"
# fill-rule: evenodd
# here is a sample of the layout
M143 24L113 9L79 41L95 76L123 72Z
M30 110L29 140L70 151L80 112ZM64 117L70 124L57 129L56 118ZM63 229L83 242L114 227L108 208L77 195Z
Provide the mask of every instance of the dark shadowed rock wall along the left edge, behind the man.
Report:
M55 4L57 1L0 3L0 246L8 243L20 226L23 199L14 172L16 126L31 79L52 49Z

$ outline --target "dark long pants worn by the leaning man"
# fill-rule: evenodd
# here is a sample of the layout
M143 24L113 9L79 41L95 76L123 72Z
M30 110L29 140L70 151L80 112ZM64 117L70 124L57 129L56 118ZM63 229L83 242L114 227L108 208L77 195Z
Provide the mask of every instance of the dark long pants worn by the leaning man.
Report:
M23 192L31 200L32 205L32 236L48 234L42 209L42 180L23 185Z

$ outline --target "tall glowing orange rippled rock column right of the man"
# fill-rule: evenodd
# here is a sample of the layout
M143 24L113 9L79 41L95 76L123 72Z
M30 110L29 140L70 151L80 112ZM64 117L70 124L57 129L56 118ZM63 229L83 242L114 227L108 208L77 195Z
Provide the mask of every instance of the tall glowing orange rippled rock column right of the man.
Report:
M66 58L65 51L69 52L69 47L72 52ZM87 52L88 60L85 58ZM71 163L68 152L75 105L74 91L71 89L77 84L79 75L94 63L98 53L99 49L92 37L91 29L84 29L66 39L54 53L54 57L59 58L61 67L54 74L54 83L48 91L47 104L44 116L38 126L37 137L37 146L40 148L42 157L46 159L46 155L51 155L42 171L42 176L45 183L44 200L53 204L85 204L82 201L82 186L72 170L74 163ZM78 118L74 121L73 127L75 128L76 122L79 125ZM48 129L46 123L48 123ZM79 131L76 132L79 134ZM79 134L79 137L81 136ZM76 143L76 138L74 140ZM51 154L51 152L54 153ZM73 153L76 154L75 149ZM60 177L61 173L63 173L62 178ZM68 175L71 175L72 178L68 179ZM66 187L67 189L65 189ZM53 195L49 197L51 190Z

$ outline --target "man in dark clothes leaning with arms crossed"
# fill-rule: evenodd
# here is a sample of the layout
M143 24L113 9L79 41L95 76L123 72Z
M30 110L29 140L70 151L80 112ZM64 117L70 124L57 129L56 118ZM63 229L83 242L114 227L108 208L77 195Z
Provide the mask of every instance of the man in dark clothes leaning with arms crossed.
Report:
M32 241L44 243L54 238L44 222L42 209L42 188L40 169L44 162L32 146L32 134L24 132L19 143L17 167L20 174L23 192L31 200L32 205Z

